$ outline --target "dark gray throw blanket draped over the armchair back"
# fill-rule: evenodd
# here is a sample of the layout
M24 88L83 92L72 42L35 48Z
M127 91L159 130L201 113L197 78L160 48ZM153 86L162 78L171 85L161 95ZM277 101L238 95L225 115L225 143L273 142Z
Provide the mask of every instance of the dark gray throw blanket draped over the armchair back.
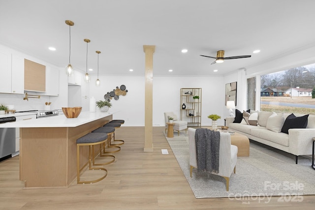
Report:
M219 173L220 132L197 128L195 133L198 171Z

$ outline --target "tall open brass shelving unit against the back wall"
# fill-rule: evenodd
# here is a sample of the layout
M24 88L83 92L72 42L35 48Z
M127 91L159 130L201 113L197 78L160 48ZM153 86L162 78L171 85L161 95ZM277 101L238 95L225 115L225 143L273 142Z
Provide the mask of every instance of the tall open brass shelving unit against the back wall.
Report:
M188 126L201 127L201 88L182 88L180 94L180 120L187 121Z

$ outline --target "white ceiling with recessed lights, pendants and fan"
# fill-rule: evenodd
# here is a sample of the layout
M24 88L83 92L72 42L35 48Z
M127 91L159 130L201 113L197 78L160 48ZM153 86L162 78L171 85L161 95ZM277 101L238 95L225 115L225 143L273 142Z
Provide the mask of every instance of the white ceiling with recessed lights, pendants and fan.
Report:
M99 74L143 75L143 45L155 45L155 75L226 75L314 46L314 8L314 0L1 0L0 44L66 66L71 20L75 69L86 71L88 38L91 74L101 51ZM218 50L252 58L210 65L199 56Z

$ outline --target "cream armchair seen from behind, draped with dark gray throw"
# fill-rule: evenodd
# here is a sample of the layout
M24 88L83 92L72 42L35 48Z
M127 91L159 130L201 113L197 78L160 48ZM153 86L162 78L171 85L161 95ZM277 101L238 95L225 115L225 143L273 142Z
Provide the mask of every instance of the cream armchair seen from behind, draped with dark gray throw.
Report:
M192 177L192 169L197 168L195 132L196 129L188 128L190 177ZM226 191L228 191L229 179L233 171L235 174L237 150L236 146L231 145L230 134L220 132L219 173L215 175L221 176L226 180Z

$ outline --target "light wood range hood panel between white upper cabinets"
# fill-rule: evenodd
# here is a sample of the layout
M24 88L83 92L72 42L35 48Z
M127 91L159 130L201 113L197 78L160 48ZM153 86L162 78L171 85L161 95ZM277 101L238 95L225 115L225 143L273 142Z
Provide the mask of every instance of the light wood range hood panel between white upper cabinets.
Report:
M24 59L24 90L46 92L46 66Z

